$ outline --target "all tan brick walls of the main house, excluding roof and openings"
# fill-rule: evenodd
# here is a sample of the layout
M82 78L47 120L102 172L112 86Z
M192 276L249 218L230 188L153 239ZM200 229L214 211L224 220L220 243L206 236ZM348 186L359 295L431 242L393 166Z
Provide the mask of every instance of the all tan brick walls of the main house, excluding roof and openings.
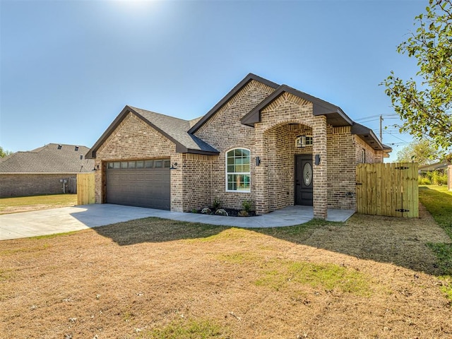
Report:
M249 200L256 213L268 213L295 202L295 156L313 158L314 216L326 218L327 208L354 209L357 163L382 162L383 151L373 150L350 126L333 127L325 115L314 115L314 104L283 93L260 112L252 126L242 117L266 99L274 88L251 80L234 93L194 132L218 150L218 155L178 153L176 145L136 115L129 113L96 152L96 203L105 201L105 163L112 160L168 158L171 171L171 210L191 211L212 206L219 199L225 208L242 208ZM311 136L313 144L298 148L297 136ZM227 191L226 153L250 150L251 189ZM315 164L318 155L320 163ZM256 157L261 160L256 165Z

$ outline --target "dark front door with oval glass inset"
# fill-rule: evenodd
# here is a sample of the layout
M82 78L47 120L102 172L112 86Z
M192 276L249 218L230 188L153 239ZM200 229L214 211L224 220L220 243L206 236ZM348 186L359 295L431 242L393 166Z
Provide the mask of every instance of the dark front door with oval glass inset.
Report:
M312 206L312 155L295 155L295 205Z

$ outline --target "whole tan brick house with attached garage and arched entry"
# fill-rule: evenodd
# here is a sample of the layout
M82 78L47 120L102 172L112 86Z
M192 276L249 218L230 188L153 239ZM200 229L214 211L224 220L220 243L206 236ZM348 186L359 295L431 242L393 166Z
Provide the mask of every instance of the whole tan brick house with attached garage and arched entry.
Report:
M355 168L391 148L340 107L249 74L201 118L126 106L88 152L96 203L257 214L292 205L355 209Z

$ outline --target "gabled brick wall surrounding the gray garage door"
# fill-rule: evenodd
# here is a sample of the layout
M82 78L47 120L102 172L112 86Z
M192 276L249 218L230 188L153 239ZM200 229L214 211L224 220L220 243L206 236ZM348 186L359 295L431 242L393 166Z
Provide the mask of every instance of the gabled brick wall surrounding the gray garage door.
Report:
M105 202L105 163L117 160L142 160L169 157L182 167L182 154L176 153L176 145L161 133L155 131L143 120L129 113L117 129L107 138L96 152L95 167L95 202ZM182 211L182 170L171 171L171 210Z

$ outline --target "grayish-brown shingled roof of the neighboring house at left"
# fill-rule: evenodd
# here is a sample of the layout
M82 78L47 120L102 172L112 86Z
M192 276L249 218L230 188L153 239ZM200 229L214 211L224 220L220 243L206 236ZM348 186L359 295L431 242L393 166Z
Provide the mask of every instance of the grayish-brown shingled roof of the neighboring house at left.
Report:
M94 161L85 158L89 148L49 143L35 150L0 158L0 174L76 174L91 172Z

